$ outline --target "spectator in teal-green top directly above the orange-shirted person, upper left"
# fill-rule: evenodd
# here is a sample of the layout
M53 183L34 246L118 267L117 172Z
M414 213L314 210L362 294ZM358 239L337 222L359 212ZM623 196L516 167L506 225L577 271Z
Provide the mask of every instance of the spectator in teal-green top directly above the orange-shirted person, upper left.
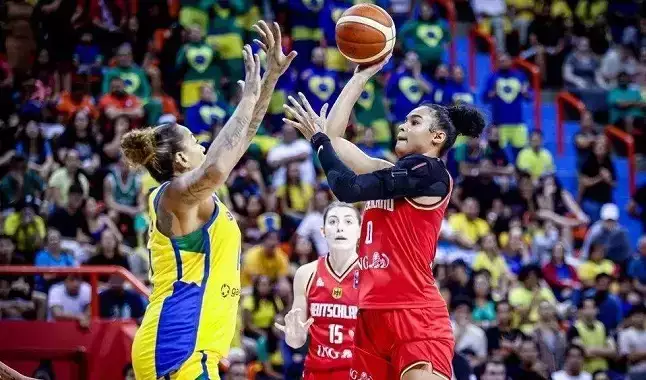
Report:
M132 95L138 99L147 100L150 96L150 83L144 70L133 62L130 44L119 46L115 58L116 66L107 70L103 76L101 93L104 95L112 93L113 96L121 94L115 89L115 83L117 83L115 78L120 78L122 86L119 90L123 91L124 97Z

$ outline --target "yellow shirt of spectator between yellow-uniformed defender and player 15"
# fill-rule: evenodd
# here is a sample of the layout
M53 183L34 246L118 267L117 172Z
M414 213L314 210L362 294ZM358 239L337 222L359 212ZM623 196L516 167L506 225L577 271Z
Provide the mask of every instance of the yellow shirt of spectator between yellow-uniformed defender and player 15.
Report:
M289 274L289 257L280 248L275 248L275 255L265 255L262 245L251 247L244 255L242 264L242 286L249 286L255 276L267 276L271 280Z

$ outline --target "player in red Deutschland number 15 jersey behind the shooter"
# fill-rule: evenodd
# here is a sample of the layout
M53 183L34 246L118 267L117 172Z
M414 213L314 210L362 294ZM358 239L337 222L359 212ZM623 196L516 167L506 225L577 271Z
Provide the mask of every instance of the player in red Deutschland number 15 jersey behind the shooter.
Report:
M323 221L330 253L298 268L292 309L285 326L276 327L294 348L302 347L309 336L305 380L347 380L357 323L361 224L357 210L341 202L328 206Z

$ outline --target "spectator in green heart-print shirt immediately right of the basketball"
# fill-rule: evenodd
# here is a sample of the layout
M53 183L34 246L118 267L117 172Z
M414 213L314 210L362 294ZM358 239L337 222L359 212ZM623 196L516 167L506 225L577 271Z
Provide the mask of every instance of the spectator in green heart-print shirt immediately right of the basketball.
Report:
M439 18L430 3L419 6L417 19L404 23L399 30L402 48L417 53L422 69L433 72L441 63L446 45L451 41L446 22Z

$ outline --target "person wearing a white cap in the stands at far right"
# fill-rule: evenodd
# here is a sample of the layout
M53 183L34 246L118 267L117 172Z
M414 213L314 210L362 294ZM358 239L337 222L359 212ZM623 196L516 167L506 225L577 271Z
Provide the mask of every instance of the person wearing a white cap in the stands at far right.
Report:
M625 270L631 256L631 245L626 229L619 224L619 207L606 203L601 207L601 220L594 223L581 247L582 258L587 259L593 244L606 249L606 258Z

